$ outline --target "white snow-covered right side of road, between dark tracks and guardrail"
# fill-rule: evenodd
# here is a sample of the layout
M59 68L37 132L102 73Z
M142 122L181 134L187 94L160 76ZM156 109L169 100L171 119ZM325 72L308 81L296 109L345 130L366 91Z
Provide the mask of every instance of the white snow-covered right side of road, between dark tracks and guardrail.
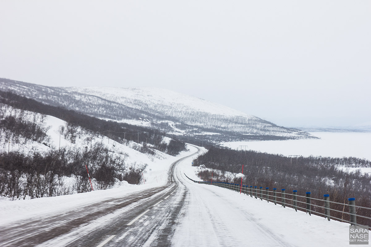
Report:
M178 170L187 170L189 165L181 163ZM184 175L180 179L189 193L172 246L349 245L347 223L309 216L225 188L193 183Z

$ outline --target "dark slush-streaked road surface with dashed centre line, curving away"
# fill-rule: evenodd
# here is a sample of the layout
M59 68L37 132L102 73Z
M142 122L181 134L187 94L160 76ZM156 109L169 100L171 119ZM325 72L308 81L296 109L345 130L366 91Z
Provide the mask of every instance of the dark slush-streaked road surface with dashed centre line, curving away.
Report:
M175 167L199 152L197 148L197 152L171 164L165 186L0 227L0 245L170 246L187 194L184 187L180 189L179 180L174 179Z

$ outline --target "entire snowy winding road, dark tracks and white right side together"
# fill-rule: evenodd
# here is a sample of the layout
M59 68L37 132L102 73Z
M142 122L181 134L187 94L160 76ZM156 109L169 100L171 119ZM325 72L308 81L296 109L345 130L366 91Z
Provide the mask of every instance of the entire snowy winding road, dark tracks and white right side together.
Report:
M168 184L138 189L122 196L116 193L111 198L103 197L65 210L53 211L46 206L49 213L37 217L23 216L20 219L14 216L14 221L0 224L0 245L349 245L349 225L346 223L327 221L236 191L188 180L184 173L193 176L192 156L200 151L195 146L188 147L191 154L173 163ZM80 195L68 198L77 196ZM53 198L44 200L55 201Z

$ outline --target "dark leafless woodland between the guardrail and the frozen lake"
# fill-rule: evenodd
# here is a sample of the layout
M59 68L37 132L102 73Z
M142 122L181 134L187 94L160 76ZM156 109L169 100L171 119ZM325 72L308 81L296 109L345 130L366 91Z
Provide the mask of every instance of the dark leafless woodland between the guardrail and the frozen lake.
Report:
M193 161L193 166L201 164L209 168L200 170L198 174L204 181L211 181L212 169L241 173L243 164L243 185L285 188L286 191L298 190L298 194L311 191L312 196L316 198L323 198L324 194L329 194L331 201L339 203L347 203L348 198L355 197L358 206L370 207L371 204L371 176L359 170L349 172L345 168L338 168L371 167L371 162L365 159L310 156L298 157L296 160L296 158L256 151L241 152L227 148L210 148L207 153ZM213 181L240 184L241 178L226 181L224 176L217 176ZM313 200L313 203L317 202ZM344 211L341 205L336 204L333 208ZM314 207L314 210L322 209ZM369 215L371 212L358 208L357 213ZM338 218L345 217L339 212L331 212L331 214ZM359 223L370 225L371 222L360 218Z

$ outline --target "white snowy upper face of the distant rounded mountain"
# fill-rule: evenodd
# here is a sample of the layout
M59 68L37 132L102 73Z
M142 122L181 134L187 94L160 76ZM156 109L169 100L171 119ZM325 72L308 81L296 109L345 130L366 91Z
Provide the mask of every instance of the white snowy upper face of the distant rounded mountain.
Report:
M154 87L68 87L66 89L109 99L179 123L203 126L215 132L236 131L243 134L291 137L299 137L303 134L300 131L280 128L230 107L167 89Z

